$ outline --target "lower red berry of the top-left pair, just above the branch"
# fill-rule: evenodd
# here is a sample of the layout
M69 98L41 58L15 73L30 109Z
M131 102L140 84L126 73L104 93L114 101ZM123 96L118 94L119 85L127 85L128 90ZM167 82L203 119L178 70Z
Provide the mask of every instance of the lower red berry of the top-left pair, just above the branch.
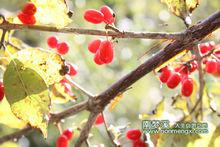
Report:
M24 14L23 12L18 13L19 20L25 25L34 25L36 23L36 19L34 15Z

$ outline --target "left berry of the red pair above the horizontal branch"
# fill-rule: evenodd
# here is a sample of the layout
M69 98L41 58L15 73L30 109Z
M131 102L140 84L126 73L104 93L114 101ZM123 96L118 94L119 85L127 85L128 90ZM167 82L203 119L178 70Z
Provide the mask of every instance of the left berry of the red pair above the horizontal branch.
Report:
M84 19L94 24L102 23L103 17L103 14L95 9L88 9L84 13Z

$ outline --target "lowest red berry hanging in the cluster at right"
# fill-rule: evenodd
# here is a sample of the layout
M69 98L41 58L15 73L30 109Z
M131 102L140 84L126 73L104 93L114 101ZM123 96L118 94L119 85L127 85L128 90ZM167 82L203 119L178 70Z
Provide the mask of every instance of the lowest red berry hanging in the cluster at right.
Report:
M189 97L193 92L193 79L185 78L182 83L181 93L183 96Z

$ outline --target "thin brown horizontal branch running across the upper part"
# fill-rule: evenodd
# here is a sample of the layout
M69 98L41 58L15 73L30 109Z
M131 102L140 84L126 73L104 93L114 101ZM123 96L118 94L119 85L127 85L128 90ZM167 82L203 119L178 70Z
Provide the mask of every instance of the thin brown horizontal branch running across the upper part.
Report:
M83 35L98 35L98 36L112 36L115 38L142 38L142 39L182 39L183 33L148 33L148 32L115 32L106 30L93 30L84 28L57 28L51 26L39 26L39 25L22 25L22 24L0 24L0 29L4 30L39 30L47 32L57 33L71 33L71 34L83 34Z

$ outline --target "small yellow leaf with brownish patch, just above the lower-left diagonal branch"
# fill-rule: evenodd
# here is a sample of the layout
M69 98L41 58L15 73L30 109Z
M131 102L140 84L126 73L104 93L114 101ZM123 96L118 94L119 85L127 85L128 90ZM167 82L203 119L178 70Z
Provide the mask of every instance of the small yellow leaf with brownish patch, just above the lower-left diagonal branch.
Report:
M76 100L75 95L70 95L65 91L64 85L61 83L54 84L50 92L52 102L55 103L66 103L68 101Z

